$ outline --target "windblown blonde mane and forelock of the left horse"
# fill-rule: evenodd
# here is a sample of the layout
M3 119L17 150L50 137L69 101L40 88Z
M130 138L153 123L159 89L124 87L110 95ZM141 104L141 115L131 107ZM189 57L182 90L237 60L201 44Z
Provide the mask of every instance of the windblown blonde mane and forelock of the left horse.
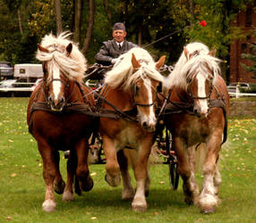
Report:
M43 37L40 45L47 49L43 52L38 49L36 58L40 62L48 62L49 77L53 77L54 67L58 67L66 78L82 82L84 72L87 69L86 59L81 54L78 46L71 40L67 39L71 33L63 32L58 37L52 34ZM69 44L73 45L71 54L66 53L65 47Z

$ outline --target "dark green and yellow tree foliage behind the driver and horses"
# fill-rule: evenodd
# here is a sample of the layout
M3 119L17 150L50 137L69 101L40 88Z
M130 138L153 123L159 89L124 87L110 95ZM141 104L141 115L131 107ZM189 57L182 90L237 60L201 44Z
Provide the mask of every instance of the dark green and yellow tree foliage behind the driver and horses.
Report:
M64 30L74 29L73 0L62 0ZM95 0L95 17L90 49L86 55L94 62L103 41L112 38L111 27L115 21L124 21L127 39L141 43L156 58L166 54L166 63L177 61L183 45L201 41L210 48L218 48L218 57L228 60L229 45L235 37L243 37L240 29L231 30L230 22L235 14L252 0L104 0L109 5L107 16L103 0ZM89 6L81 1L81 41L86 35ZM193 7L191 8L191 3ZM34 52L41 37L49 32L55 34L55 11L52 0L0 0L0 19L6 24L0 30L0 59L4 61L35 62ZM17 12L21 12L19 30ZM200 21L207 22L206 27ZM141 42L139 42L139 40Z

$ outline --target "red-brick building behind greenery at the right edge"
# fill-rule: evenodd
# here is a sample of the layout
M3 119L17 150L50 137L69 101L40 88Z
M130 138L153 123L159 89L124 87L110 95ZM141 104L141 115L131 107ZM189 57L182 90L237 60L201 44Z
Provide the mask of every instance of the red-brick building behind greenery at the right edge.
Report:
M245 37L235 40L230 46L229 82L256 83L256 78L251 78L252 73L246 72L241 65L241 63L252 65L252 61L243 59L241 54L251 54L248 43L256 44L256 3L238 12L236 21L232 25L241 28Z

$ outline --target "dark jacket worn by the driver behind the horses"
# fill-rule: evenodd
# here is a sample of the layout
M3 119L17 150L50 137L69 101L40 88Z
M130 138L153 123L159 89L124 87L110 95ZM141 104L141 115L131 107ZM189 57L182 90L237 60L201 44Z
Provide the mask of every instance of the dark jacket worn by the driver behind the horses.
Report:
M107 66L111 64L112 59L126 53L133 47L137 47L137 45L124 40L121 49L119 49L114 39L108 40L106 42L103 42L103 45L101 46L98 54L95 55L95 59L98 63Z

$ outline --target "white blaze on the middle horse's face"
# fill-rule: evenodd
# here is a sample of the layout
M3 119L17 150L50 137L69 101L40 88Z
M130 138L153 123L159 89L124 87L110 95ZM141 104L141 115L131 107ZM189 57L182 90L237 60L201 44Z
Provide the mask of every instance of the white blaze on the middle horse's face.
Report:
M144 85L148 92L148 98L149 98L148 104L152 104L153 103L153 95L152 95L152 90L151 90L151 81L149 78L144 79ZM149 116L141 117L141 123L147 122L149 126L155 125L156 124L156 116L155 116L155 112L154 112L154 106L151 105L148 108L149 108Z

